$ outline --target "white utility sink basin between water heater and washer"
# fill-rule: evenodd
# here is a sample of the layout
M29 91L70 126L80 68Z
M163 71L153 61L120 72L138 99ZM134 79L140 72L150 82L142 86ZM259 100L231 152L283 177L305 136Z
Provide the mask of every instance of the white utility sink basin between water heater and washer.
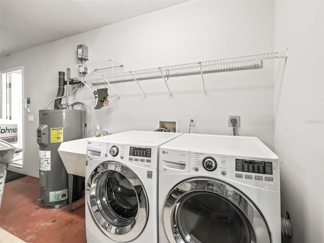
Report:
M62 142L58 148L58 152L68 174L83 177L86 176L88 139L90 138Z

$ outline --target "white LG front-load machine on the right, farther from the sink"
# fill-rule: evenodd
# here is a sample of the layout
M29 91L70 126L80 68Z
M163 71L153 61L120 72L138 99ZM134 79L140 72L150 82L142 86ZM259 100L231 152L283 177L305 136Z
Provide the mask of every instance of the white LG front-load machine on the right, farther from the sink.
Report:
M160 147L160 243L279 243L278 157L256 137L183 134Z

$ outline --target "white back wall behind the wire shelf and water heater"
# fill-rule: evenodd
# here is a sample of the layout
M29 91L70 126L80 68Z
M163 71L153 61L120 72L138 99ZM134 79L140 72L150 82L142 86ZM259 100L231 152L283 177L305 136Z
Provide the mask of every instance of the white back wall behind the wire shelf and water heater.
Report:
M72 77L79 76L77 45L88 46L87 63L113 59L131 71L279 51L274 50L273 31L273 1L191 0L1 57L2 69L24 66L24 97L31 99L31 111L24 118L24 173L38 177L38 110L56 97L59 71L70 68ZM201 76L191 75L168 80L172 97L163 79L152 79L140 81L146 98L134 82L113 85L120 99L106 85L109 105L99 110L93 109L95 99L86 87L78 88L69 103L87 104L88 136L94 135L96 124L109 133L153 131L166 119L178 123L178 132L188 132L192 116L192 133L232 135L228 116L240 115L237 135L257 136L274 149L274 63L206 74L207 95ZM34 115L33 122L28 115Z

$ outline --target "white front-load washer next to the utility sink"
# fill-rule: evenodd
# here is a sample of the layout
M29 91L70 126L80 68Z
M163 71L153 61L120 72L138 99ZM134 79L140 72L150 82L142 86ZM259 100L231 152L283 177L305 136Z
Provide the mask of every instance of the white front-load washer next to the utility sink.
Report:
M129 131L88 140L88 243L158 242L158 150L180 135Z

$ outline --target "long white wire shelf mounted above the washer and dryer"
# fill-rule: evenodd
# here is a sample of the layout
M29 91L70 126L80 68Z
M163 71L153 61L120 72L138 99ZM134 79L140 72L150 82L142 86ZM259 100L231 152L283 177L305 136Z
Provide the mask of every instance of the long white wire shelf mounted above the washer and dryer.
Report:
M106 60L96 63L83 64L88 68L88 75L75 78L74 82L89 82L93 84L121 83L136 80L169 78L173 76L194 75L202 73L212 73L219 71L230 71L235 69L249 69L262 67L262 60L288 57L287 50L282 52L272 52L256 54L250 56L218 59L212 61L187 63L166 67L142 69L124 72L124 65L113 60Z

